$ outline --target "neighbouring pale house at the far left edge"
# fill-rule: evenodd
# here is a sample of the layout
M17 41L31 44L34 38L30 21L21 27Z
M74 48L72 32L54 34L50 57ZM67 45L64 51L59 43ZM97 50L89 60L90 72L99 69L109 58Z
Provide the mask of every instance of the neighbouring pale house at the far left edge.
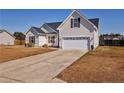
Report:
M0 30L0 45L14 45L15 37L6 30Z

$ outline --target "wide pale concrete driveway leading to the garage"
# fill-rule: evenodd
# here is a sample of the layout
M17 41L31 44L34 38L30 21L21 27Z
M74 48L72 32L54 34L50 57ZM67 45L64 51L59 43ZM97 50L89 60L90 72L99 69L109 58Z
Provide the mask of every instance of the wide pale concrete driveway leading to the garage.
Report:
M1 63L0 82L63 82L55 76L85 53L58 50Z

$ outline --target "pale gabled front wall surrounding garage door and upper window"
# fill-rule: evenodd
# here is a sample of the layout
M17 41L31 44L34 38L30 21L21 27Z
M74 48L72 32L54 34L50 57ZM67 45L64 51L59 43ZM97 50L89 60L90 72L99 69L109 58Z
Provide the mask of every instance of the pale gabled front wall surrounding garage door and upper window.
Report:
M80 17L81 20L81 24L80 24L80 28L71 28L70 27L70 20L71 18L74 17ZM93 44L93 27L86 22L86 20L84 20L79 14L74 13L72 14L72 16L64 23L64 25L61 26L61 28L59 28L59 36L60 36L60 47L62 47L62 39L63 37L66 36L71 36L71 37L76 37L76 36L80 36L80 37L90 37L90 45Z

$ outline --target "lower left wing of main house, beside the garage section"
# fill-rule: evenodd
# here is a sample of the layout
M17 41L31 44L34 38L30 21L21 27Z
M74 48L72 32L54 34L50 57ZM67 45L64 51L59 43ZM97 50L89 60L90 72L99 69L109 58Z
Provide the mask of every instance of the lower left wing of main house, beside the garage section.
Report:
M58 26L62 22L44 23L40 28L31 27L26 32L26 43L33 43L35 46L58 47Z

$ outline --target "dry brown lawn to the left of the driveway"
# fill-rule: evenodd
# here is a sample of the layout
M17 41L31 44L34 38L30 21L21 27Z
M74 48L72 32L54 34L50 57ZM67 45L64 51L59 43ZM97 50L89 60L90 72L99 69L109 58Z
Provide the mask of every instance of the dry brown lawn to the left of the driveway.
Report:
M0 63L54 50L50 48L26 48L24 46L0 46Z

